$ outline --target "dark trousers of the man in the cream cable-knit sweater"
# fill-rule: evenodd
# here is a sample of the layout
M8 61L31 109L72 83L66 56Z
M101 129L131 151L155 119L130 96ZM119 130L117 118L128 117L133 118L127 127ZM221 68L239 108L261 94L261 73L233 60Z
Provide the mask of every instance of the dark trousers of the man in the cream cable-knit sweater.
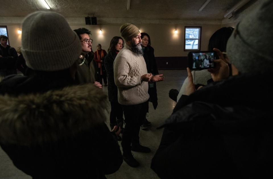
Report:
M131 144L139 143L140 126L145 119L148 101L137 105L122 105L125 127L121 146L125 153L131 152Z

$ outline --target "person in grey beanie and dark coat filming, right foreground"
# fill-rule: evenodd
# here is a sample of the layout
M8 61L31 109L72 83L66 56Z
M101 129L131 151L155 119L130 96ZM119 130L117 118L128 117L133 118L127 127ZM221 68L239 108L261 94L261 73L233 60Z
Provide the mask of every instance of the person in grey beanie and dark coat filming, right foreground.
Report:
M187 68L186 95L161 126L151 163L160 178L273 177L272 16L266 0L238 22L227 57L214 48L214 83L196 90Z

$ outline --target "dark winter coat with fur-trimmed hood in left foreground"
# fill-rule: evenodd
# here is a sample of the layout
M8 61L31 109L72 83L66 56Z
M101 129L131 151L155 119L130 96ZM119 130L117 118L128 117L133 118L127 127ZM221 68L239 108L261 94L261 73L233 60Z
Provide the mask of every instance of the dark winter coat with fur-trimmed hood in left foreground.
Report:
M105 178L117 171L123 159L105 124L106 94L92 84L61 88L69 80L50 83L47 76L42 87L55 90L38 92L37 81L13 76L0 83L0 144L14 165L33 178Z

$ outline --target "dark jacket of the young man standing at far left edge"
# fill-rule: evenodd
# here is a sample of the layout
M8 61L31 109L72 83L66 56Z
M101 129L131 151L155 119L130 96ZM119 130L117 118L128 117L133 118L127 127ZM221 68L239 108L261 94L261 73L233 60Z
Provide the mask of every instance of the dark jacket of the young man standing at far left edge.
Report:
M1 46L1 45L0 45ZM0 76L8 76L11 74L17 74L16 71L16 60L18 58L18 54L15 50L15 48L7 45L7 55L4 55L4 52L2 50L2 46L0 47Z

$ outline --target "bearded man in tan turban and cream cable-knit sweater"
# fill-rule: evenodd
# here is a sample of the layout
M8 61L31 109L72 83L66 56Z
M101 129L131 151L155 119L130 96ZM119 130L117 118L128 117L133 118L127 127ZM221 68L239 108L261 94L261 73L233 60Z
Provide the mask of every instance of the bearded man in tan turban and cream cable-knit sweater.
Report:
M150 148L139 143L139 130L146 115L148 105L148 81L164 80L162 74L152 76L147 73L146 63L142 56L141 34L133 24L120 27L121 36L125 39L125 47L117 54L114 61L114 78L118 87L118 101L122 105L125 116L125 128L122 136L124 161L132 167L139 165L131 153L150 152ZM132 144L132 146L131 146Z

